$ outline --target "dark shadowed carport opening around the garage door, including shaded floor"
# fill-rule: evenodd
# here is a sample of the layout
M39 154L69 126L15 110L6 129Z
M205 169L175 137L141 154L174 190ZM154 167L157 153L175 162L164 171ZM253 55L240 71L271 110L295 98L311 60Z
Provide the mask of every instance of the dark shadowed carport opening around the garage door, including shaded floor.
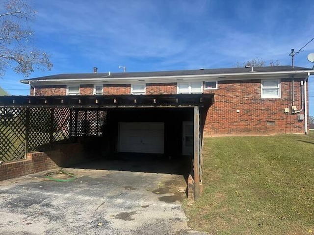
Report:
M104 137L97 140L99 162L84 167L188 177L193 159L193 107L106 112Z

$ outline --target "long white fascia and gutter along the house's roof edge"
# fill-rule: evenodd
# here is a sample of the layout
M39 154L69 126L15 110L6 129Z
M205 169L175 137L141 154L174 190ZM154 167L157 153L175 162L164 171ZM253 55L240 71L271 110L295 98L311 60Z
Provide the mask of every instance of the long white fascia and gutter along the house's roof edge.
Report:
M308 73L314 73L314 70L310 71L277 71L277 72L239 72L239 73L214 73L214 74L197 74L197 75L181 75L181 76L151 76L151 77L127 77L127 78L81 78L81 79L38 79L38 80L25 80L23 83L29 82L33 85L45 84L133 84L133 83L170 83L170 82L184 82L184 81L226 81L226 80L250 80L250 79L267 79L275 77L294 76L294 78L303 78Z

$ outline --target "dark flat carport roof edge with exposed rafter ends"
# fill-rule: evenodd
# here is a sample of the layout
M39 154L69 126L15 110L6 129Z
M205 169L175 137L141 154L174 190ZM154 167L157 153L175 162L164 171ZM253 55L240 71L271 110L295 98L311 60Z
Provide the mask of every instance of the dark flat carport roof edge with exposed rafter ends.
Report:
M214 94L0 96L0 107L209 107Z

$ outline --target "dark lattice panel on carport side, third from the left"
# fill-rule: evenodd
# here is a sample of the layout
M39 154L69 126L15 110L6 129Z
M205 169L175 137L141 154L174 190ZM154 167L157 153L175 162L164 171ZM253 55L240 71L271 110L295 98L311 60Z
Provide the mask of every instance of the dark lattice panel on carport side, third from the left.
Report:
M53 111L53 140L66 141L70 138L70 109L60 108Z

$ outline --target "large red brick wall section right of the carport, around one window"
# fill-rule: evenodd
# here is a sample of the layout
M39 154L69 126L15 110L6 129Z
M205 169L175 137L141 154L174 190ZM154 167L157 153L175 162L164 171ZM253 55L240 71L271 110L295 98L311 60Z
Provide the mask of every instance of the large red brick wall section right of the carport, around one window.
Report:
M262 99L261 80L218 81L218 90L204 90L215 94L215 102L207 112L204 134L304 133L304 121L291 114L291 87L291 80L282 79L281 98ZM300 80L294 83L294 93L299 110ZM290 112L284 113L285 108ZM275 125L267 125L267 121Z

